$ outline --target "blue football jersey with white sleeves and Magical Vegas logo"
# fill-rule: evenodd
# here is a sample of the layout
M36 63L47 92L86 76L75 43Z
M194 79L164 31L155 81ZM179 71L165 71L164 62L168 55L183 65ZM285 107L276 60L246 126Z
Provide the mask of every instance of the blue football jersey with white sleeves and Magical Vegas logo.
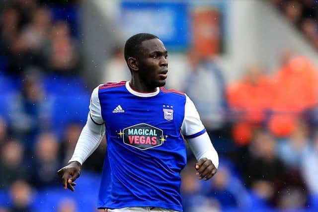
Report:
M163 87L140 93L126 81L106 83L93 91L90 117L107 140L98 207L182 211L183 137L205 133L192 101Z

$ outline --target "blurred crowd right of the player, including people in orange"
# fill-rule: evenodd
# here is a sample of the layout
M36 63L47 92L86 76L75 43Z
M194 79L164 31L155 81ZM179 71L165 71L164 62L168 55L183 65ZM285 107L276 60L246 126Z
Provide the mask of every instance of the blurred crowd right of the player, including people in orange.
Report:
M276 70L251 64L225 85L213 60L197 59L189 75L200 89L185 91L221 159L215 177L200 183L189 154L184 211L317 211L317 67L288 50Z

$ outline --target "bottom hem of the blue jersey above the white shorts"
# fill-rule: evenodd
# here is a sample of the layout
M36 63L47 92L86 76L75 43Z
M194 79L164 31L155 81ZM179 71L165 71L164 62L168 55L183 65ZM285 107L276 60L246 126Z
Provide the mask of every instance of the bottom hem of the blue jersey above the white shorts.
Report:
M136 205L136 204L123 204L117 207L110 207L109 205L99 205L97 209L122 209L122 208L133 208L133 207L156 207L162 208L167 210L174 210L177 212L182 212L182 206L170 205L170 204L162 204L162 203L153 203L153 202L143 202L143 205Z

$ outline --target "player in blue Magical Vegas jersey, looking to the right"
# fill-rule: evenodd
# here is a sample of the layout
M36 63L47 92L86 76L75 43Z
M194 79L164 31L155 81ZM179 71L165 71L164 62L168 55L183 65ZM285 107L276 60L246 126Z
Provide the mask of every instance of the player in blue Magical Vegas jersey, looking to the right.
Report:
M168 62L159 38L136 34L127 40L124 52L131 80L109 82L93 90L87 123L69 164L58 174L64 188L74 191L81 164L106 132L98 208L181 212L179 174L186 164L183 138L198 160L199 179L208 180L216 173L218 154L189 97L162 87ZM108 164L110 168L105 168Z

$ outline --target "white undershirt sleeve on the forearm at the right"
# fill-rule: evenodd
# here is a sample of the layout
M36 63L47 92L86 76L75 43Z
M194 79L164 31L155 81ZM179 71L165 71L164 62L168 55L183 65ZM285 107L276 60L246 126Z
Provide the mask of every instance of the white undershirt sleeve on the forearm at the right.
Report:
M218 152L215 150L206 132L198 137L187 139L187 141L197 161L206 157L212 161L216 168L219 167Z

